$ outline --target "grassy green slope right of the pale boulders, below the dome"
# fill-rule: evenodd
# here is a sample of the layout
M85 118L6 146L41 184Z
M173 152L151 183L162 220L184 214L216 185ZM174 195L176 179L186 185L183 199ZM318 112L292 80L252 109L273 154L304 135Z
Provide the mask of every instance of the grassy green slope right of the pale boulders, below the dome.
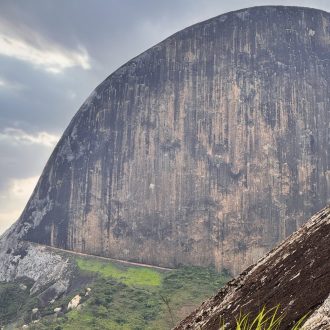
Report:
M56 307L67 306L77 293L84 295L86 286L41 309L45 317L30 329L170 329L229 280L199 267L164 272L81 257L76 263L79 276L93 278L82 308L58 318L46 316ZM33 307L35 301L28 301L24 308Z

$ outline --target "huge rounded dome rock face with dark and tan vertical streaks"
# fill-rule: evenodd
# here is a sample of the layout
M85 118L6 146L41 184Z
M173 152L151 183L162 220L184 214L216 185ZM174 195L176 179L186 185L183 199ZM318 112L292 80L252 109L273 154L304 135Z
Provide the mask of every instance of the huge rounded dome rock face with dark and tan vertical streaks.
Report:
M329 77L326 12L184 29L95 89L7 237L236 274L330 201Z

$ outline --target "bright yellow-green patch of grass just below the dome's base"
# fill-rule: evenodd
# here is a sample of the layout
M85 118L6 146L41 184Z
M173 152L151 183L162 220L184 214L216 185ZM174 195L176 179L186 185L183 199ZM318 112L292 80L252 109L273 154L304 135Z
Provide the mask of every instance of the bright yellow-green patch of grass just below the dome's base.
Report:
M116 266L112 262L77 258L77 265L80 270L96 272L103 277L112 277L127 285L137 286L159 286L162 275L149 268Z

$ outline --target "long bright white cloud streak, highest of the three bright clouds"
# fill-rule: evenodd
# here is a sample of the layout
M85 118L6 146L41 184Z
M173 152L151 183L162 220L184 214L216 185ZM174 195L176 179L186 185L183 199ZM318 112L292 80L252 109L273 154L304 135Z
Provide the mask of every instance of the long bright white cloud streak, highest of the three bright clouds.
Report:
M91 68L85 49L71 51L56 47L47 41L35 46L19 37L0 32L0 55L14 57L29 62L51 73L60 73L65 69L80 66L84 70Z

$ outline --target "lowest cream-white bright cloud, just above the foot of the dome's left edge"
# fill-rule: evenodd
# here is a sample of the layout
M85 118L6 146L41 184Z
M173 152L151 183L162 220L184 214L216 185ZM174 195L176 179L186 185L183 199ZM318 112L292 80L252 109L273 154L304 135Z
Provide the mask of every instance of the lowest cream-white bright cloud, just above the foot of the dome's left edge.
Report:
M12 179L5 193L0 195L0 235L19 218L38 178Z

